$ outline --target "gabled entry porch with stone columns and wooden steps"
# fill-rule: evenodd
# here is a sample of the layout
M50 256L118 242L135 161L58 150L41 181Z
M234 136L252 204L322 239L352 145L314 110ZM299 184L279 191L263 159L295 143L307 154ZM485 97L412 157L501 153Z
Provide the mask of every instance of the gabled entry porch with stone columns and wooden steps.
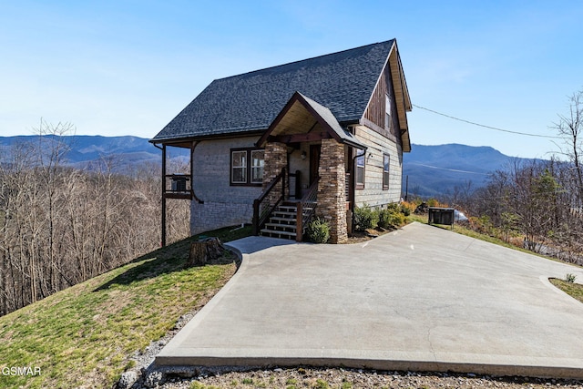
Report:
M265 165L264 190L254 204L255 233L302 241L307 222L318 215L330 222L332 242L346 241L348 149L366 147L330 109L299 92L257 146L265 148Z

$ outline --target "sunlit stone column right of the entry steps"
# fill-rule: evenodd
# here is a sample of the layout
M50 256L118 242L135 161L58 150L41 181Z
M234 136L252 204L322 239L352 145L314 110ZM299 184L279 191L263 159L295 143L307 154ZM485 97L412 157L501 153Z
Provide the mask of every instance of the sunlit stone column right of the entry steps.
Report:
M335 139L322 139L318 174L318 214L330 223L330 241L342 243L348 240L342 143Z

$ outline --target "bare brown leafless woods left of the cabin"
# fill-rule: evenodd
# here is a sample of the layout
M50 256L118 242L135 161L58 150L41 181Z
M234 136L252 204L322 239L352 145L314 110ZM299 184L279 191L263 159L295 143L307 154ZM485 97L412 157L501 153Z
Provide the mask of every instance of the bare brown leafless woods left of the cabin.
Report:
M160 245L159 165L67 167L70 130L44 124L0 159L0 315ZM168 206L169 241L188 236L189 201Z

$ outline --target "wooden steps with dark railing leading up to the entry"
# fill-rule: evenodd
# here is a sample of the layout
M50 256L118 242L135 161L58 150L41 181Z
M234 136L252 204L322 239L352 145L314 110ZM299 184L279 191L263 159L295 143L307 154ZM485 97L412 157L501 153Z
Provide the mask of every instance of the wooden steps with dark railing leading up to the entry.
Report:
M304 203L302 207L302 216L307 217L312 213L315 203ZM261 236L271 238L283 238L297 241L298 229L298 202L283 201L273 212L270 219L261 229ZM304 230L301 231L303 235Z

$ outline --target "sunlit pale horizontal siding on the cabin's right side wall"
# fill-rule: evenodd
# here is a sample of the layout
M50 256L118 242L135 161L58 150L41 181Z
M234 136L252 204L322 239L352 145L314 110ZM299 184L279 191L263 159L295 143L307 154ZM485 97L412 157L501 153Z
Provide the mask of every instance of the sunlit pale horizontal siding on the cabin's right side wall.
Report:
M355 135L368 149L364 158L364 189L354 190L356 207L379 207L401 200L403 151L393 139L385 138L371 128L357 126ZM383 156L390 156L389 189L383 189Z

